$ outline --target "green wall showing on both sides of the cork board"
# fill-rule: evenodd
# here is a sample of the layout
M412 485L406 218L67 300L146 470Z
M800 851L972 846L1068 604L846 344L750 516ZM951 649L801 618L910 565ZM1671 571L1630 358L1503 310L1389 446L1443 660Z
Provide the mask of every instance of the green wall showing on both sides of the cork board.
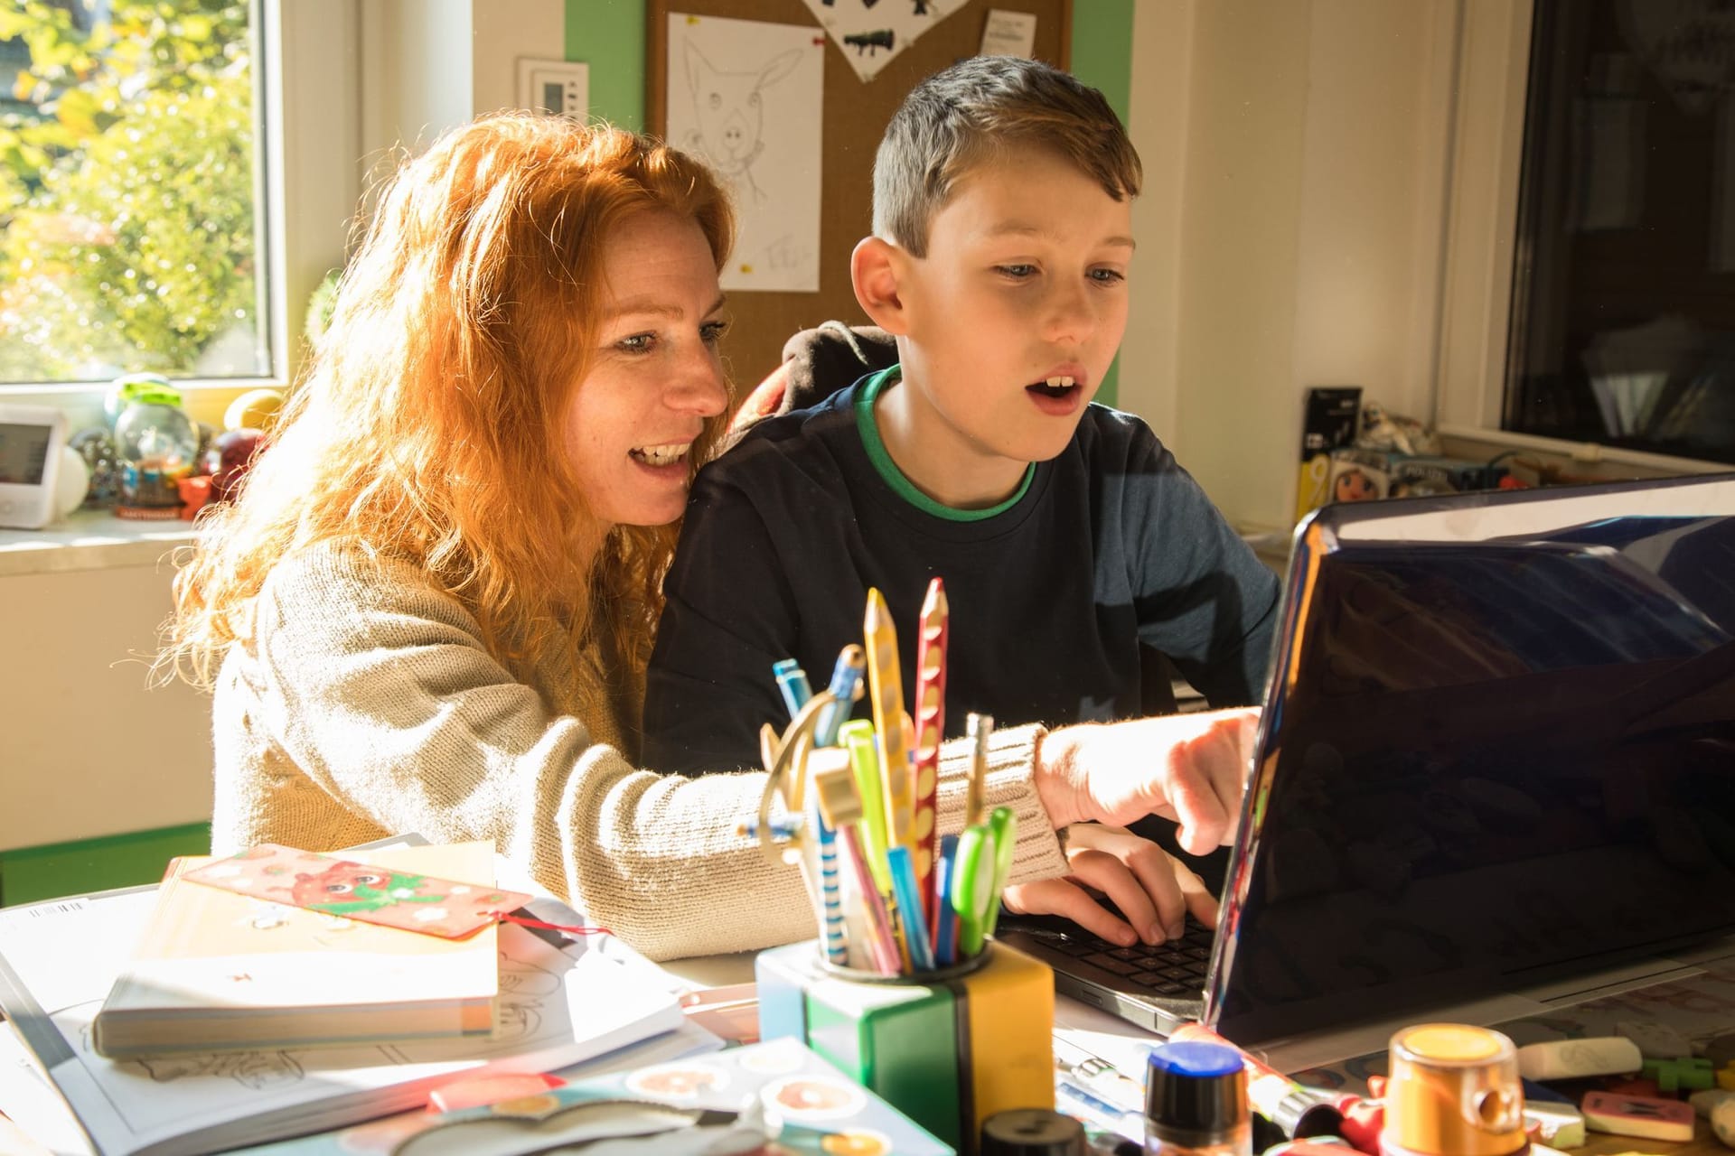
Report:
M590 64L590 111L644 128L644 0L566 0L566 59ZM1095 85L1128 120L1133 94L1133 0L1072 0L1072 75ZM1098 399L1116 402L1119 359Z

